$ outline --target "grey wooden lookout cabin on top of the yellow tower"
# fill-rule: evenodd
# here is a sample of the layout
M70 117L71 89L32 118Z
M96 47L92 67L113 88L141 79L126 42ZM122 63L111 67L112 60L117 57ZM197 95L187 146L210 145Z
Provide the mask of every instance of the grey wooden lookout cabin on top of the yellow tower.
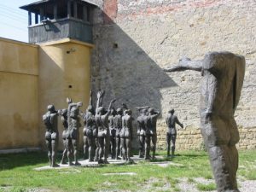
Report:
M28 11L29 43L71 38L92 43L96 5L84 0L42 0L21 6Z

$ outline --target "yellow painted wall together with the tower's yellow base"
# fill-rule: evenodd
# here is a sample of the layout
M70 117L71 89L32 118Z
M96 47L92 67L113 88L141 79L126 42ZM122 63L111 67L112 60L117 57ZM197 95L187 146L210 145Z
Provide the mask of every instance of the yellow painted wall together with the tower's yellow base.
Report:
M70 39L33 45L0 38L0 149L45 148L42 115L49 104L67 108L71 97L87 108L91 48ZM61 137L61 118L58 129Z

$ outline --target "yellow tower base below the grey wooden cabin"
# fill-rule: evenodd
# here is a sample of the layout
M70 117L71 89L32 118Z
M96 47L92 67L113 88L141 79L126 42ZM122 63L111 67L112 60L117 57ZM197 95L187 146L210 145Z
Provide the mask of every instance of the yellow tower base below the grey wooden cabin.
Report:
M39 48L39 126L41 141L44 144L45 127L42 115L49 104L55 109L67 108L66 98L73 102L83 102L83 111L90 100L90 44L63 39ZM69 86L72 86L70 88ZM82 123L82 121L81 121ZM59 118L60 148L63 127ZM82 127L80 129L82 131ZM80 144L82 134L80 134ZM44 145L43 145L44 146Z

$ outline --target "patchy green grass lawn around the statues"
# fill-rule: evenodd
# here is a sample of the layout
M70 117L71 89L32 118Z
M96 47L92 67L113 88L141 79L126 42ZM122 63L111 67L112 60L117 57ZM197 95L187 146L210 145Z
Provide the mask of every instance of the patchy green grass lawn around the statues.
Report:
M241 179L256 180L255 152L255 150L239 152L238 177ZM166 152L159 154L166 154ZM180 178L188 178L191 183L195 183L196 177L212 178L207 153L204 151L181 151L175 158L168 160L174 165L160 167L148 161L141 161L136 165L77 166L35 171L33 170L35 167L48 165L46 153L2 154L0 156L0 191L24 192L29 189L36 192L180 191L177 187ZM179 166L175 166L176 164ZM115 172L133 172L134 174L103 175ZM203 191L215 188L214 183L208 185L198 183L197 186Z

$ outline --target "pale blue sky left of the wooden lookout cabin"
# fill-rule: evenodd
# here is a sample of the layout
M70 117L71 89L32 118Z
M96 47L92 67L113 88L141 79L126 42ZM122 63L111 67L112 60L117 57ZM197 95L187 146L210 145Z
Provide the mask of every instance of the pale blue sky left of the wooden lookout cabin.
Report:
M28 42L27 12L19 7L37 1L0 0L0 38Z

